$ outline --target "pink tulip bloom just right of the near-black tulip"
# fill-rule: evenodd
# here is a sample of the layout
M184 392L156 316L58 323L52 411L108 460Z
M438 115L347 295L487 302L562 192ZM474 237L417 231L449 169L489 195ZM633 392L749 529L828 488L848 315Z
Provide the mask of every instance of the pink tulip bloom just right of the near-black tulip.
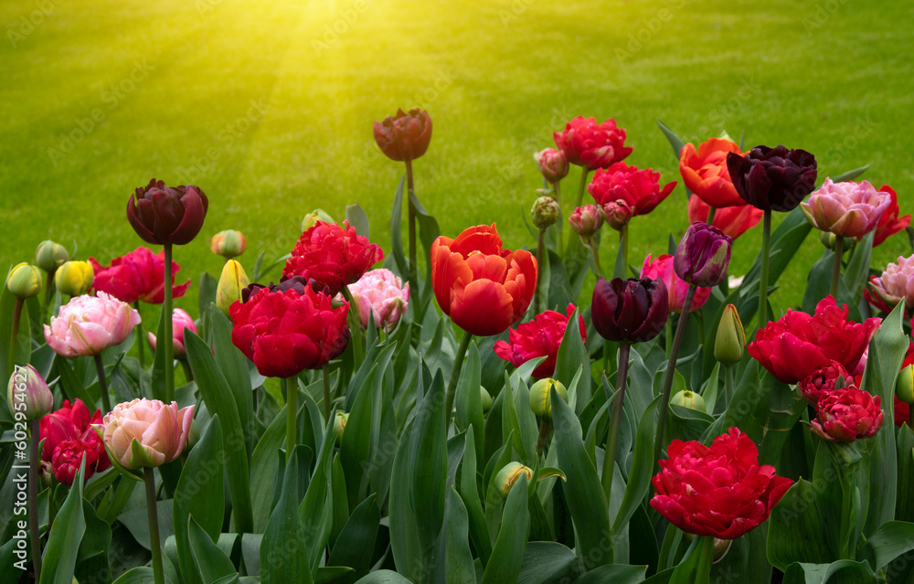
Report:
M826 178L800 208L813 227L859 241L876 228L891 203L891 195L877 191L867 181L833 183Z

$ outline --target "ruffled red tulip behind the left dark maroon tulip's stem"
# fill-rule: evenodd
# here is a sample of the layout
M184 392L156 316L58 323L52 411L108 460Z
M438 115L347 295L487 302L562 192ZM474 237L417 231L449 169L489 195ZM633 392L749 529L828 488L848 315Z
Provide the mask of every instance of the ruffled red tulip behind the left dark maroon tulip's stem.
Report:
M95 270L92 287L97 292L108 292L122 303L137 301L150 304L165 302L165 251L158 255L149 248L137 248L130 253L114 258L112 265L102 266L95 258L89 259ZM181 270L172 261L172 284L175 274ZM180 298L187 292L190 280L172 286L172 298Z

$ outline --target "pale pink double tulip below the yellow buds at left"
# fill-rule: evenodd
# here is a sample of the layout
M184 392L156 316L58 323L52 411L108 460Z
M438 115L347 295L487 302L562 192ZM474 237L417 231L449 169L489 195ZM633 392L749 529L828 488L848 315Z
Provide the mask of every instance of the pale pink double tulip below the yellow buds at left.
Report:
M77 296L61 307L50 326L45 324L45 340L59 356L93 356L123 343L137 324L140 313L130 304L99 292Z

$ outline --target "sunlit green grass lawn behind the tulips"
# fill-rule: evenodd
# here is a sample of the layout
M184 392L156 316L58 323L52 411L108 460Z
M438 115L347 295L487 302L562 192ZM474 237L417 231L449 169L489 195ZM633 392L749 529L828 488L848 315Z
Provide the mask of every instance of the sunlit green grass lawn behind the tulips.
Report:
M415 106L434 120L417 191L451 236L497 222L508 246L535 246L522 218L541 185L531 154L579 114L615 118L628 162L664 181L680 177L657 118L686 141L726 128L747 146L804 148L820 178L870 164L864 178L895 186L911 212L912 16L888 0L6 2L0 264L32 260L42 239L102 262L133 250L124 208L153 176L209 196L200 237L175 250L179 276L218 273L218 230L245 233L250 270L260 250L291 250L314 207L342 219L354 201L389 251L402 167L379 154L371 126ZM577 183L574 169L567 199ZM633 220L630 260L664 252L685 227L677 186ZM759 247L759 229L739 239L731 273ZM909 252L891 239L873 265ZM774 303L799 303L820 254L807 239ZM194 306L195 289L178 305Z

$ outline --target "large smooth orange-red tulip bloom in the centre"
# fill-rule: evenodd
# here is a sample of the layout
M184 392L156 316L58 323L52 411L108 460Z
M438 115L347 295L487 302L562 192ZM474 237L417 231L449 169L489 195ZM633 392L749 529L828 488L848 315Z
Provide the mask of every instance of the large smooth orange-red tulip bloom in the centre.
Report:
M431 287L441 312L464 331L501 334L526 313L537 288L537 259L503 250L494 224L431 244Z

